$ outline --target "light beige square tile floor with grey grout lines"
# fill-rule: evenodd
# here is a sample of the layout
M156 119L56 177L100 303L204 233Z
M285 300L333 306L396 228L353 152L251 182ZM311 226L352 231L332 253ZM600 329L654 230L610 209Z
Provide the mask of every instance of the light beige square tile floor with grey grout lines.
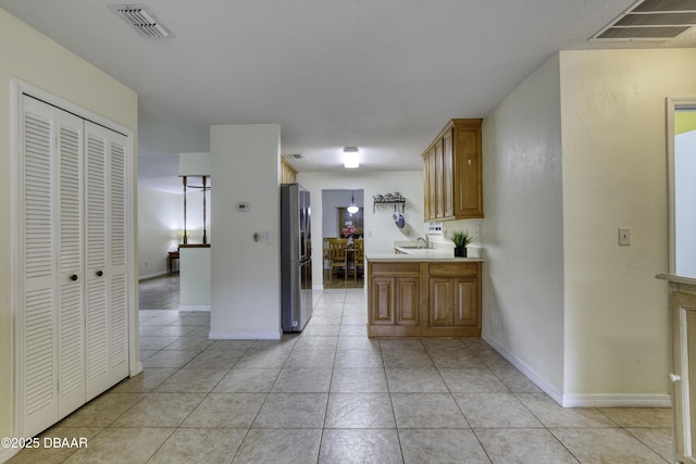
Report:
M88 448L11 462L671 462L669 409L562 409L481 338L369 339L363 289L314 300L279 341L140 311L144 373L42 434Z

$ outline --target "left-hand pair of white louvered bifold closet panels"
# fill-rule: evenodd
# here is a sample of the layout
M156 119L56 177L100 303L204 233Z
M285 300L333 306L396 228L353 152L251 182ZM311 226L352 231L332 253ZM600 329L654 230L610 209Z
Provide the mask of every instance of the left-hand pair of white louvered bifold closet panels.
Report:
M84 121L23 100L25 428L85 402L82 145Z

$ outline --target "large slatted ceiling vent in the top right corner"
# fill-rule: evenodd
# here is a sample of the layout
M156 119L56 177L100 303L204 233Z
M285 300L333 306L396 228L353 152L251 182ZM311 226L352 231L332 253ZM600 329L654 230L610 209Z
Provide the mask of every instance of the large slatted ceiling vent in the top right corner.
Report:
M641 0L591 40L669 40L696 26L696 0Z

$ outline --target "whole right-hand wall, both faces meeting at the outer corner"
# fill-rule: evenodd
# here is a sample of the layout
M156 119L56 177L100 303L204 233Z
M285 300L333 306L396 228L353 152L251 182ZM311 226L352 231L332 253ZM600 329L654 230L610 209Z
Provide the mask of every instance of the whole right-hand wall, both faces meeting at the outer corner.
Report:
M484 337L566 406L669 404L666 98L689 96L694 49L566 51L486 115Z

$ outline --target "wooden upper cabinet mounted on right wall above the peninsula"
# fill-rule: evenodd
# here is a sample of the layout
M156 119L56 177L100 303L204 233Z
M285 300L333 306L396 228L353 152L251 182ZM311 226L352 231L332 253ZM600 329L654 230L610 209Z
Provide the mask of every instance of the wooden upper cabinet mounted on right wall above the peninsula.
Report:
M483 217L482 123L450 121L423 153L425 221Z

